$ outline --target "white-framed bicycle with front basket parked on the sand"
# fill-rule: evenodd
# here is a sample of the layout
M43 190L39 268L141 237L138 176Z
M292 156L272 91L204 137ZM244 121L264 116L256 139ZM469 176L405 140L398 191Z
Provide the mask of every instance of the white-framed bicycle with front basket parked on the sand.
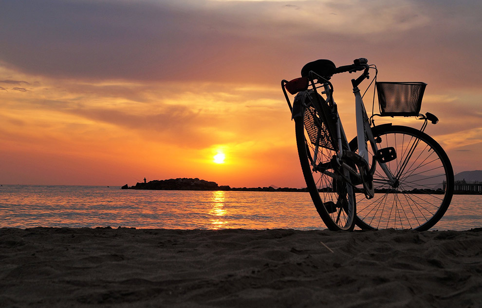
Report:
M375 71L380 113L369 118L358 86ZM348 141L330 79L354 73L356 137ZM424 131L438 122L420 113L425 83L377 82L378 70L365 58L336 67L316 60L301 69L301 77L282 80L290 107L298 156L316 210L330 230L381 228L428 230L445 214L453 195L454 175L444 149ZM321 90L321 92L319 92ZM293 104L290 97L295 95ZM364 93L364 95L365 95ZM420 129L384 123L374 117L417 117Z

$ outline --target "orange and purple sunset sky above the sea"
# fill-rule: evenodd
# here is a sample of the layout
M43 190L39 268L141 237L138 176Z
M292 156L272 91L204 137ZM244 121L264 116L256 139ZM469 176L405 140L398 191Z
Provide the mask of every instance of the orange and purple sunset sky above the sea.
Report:
M426 82L422 112L440 119L426 132L456 172L480 170L481 12L475 0L2 3L0 183L302 187L279 83L319 58ZM333 78L350 137L352 77Z

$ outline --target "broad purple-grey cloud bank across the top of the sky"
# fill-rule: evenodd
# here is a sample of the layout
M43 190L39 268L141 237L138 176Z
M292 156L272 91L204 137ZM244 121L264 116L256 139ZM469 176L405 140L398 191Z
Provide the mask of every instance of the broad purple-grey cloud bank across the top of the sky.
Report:
M480 84L477 63L467 63L482 50L473 39L480 4L467 6L458 13L411 1L9 1L0 61L58 78L266 84L316 58L343 65L368 54L412 74L421 68Z

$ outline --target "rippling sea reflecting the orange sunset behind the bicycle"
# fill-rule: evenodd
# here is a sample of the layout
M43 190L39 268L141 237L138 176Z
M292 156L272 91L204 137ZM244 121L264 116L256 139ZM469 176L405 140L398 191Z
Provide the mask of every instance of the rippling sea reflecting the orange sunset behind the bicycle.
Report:
M326 226L307 192L3 185L0 227L297 229ZM454 195L431 230L482 227L482 196Z

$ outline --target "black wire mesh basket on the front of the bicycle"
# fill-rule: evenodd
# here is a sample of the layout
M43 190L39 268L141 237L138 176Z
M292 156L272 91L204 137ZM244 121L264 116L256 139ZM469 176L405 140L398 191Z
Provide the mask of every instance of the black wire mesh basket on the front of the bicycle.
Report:
M418 116L426 85L422 82L377 82L380 115Z

